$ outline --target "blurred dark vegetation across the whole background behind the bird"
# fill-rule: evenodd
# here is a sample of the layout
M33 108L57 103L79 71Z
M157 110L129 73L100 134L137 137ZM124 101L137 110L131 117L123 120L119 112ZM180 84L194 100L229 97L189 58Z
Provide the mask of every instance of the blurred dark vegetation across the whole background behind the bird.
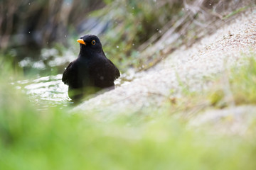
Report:
M213 32L215 21L224 21L250 3L253 1L1 0L0 52L25 72L58 74L73 57L60 64L49 64L50 60L63 57L68 50L78 55L75 40L92 33L100 36L107 57L122 72L130 67L142 69L144 64L154 65L163 53ZM171 40L166 52L141 54L159 40ZM47 49L57 52L42 57ZM38 61L43 66L36 67Z

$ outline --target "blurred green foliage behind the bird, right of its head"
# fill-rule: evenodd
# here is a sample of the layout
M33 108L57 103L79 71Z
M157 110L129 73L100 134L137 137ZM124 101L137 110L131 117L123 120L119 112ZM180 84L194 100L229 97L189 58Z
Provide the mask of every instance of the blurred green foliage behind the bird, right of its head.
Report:
M182 1L107 1L105 8L92 14L111 18L112 25L102 35L103 47L107 56L125 70L142 65L139 48L152 35L160 38L166 23L182 16L182 7Z

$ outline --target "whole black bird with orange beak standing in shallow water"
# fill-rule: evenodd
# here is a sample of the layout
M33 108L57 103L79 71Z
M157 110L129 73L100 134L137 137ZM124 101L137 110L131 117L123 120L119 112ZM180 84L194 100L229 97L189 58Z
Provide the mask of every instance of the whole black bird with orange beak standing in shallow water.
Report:
M105 56L100 39L96 35L85 35L78 42L78 58L68 65L62 78L68 85L68 96L76 100L101 89L114 89L114 80L120 73Z

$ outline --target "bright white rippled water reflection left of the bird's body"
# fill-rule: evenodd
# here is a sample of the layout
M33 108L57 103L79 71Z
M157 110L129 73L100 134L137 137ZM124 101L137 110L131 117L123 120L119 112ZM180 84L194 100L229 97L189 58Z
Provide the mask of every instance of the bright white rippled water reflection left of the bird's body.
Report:
M63 108L73 102L68 98L68 86L63 84L61 78L62 74L58 74L56 76L17 81L15 85L28 95L31 103Z

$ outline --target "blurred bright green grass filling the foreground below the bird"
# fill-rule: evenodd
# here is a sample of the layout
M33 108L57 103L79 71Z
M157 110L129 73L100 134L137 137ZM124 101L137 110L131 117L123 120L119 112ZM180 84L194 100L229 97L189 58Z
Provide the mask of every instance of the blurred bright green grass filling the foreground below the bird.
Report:
M38 111L9 84L10 77L17 77L6 67L8 63L0 65L5 66L0 73L1 169L256 167L255 129L245 137L213 135L204 126L201 130L188 128L170 114L172 108L159 109L159 113L145 109L142 114L105 121L98 120L95 113L70 114L59 108ZM246 69L247 75L255 76L256 64L250 65L253 69ZM238 70L243 73L245 68Z

